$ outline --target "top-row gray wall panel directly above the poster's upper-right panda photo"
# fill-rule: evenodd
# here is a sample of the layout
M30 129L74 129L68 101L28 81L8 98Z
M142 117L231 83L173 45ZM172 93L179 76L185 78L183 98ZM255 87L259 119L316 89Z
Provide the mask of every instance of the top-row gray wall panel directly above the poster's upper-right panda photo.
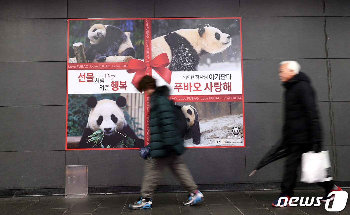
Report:
M154 17L239 17L239 0L154 1ZM210 15L209 15L210 14Z

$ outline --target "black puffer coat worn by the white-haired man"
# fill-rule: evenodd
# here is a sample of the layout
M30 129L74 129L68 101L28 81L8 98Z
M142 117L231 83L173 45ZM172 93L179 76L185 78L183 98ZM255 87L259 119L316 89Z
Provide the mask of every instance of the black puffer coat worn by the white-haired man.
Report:
M302 72L283 83L285 92L285 125L283 136L288 144L319 143L322 132L314 90Z

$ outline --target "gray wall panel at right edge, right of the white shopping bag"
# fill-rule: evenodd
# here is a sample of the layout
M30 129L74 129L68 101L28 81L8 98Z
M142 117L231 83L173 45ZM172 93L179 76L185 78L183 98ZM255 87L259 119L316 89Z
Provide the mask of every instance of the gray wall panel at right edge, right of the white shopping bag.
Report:
M336 180L350 181L349 151L350 146L335 146L336 155Z

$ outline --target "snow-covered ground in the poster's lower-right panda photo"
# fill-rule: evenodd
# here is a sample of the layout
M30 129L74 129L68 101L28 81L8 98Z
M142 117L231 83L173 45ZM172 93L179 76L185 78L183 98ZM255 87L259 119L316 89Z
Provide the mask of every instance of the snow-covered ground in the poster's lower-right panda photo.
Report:
M211 120L200 121L201 144L192 143L192 138L184 141L184 146L243 146L244 130L243 130L243 114L229 115L217 117ZM232 127L240 127L241 138L232 138ZM217 143L217 139L220 143ZM230 141L223 141L223 140ZM227 143L231 142L231 143Z

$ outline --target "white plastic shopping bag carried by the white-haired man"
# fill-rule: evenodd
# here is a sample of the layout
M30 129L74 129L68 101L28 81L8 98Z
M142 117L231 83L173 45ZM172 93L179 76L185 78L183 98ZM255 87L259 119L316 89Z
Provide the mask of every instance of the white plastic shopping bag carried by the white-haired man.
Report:
M314 151L303 153L301 156L301 181L305 183L316 183L332 180L329 152Z

